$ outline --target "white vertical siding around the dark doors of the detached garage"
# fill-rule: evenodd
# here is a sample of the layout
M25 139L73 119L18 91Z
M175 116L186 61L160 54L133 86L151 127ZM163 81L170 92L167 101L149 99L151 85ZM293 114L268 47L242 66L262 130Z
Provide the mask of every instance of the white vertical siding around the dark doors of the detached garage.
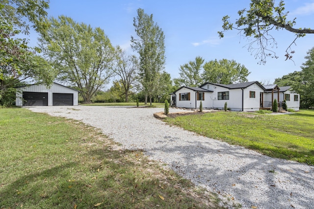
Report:
M48 106L52 106L53 93L73 93L73 105L78 105L78 91L57 83L53 83L50 89L47 89L45 85L31 85L19 88L16 92L16 106L23 106L23 92L48 93Z

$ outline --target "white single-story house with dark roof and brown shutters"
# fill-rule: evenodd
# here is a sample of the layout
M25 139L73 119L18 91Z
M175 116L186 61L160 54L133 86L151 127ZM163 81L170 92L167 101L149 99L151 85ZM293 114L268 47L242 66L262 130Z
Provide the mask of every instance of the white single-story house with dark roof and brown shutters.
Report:
M171 93L171 104L180 108L196 109L199 108L202 101L204 109L224 109L227 102L227 108L232 111L250 112L271 109L272 102L277 97L280 101L278 104L282 105L280 98L284 98L284 94L287 94L288 98L288 94L291 94L291 98L293 96L296 101L290 102L286 99L288 108L298 110L299 94L288 92L288 87L283 87L282 90L277 85L275 85L275 89L266 87L267 89L258 81L229 85L207 82L199 87L183 86ZM276 91L279 94L282 92L282 95Z

